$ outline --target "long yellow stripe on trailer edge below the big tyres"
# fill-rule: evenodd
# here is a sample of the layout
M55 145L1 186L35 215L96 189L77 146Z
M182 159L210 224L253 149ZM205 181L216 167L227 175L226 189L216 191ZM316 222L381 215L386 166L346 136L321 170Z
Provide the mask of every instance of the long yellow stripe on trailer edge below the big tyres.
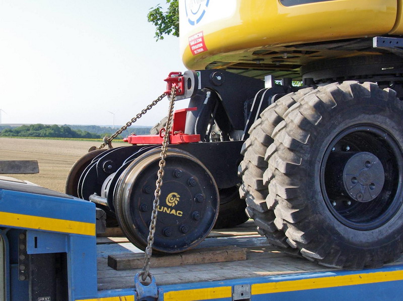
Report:
M396 280L403 280L403 271L375 272L375 273L354 274L345 276L290 280L281 282L257 283L252 284L251 294L258 295L258 294L288 292L288 291L316 289L316 288L369 284L369 283L387 282Z

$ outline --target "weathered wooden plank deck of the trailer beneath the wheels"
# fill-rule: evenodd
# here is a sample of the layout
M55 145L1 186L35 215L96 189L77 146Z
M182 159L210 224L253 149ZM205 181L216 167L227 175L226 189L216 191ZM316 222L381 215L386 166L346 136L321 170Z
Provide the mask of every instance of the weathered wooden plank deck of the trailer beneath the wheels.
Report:
M111 231L111 230L109 230ZM119 231L112 230L112 233ZM340 271L310 262L305 258L291 256L267 243L265 237L254 231L253 221L231 229L214 230L197 249L236 246L246 251L246 260L205 263L174 267L151 267L150 271L158 286L224 281L231 279L277 276L298 273ZM98 290L133 287L133 276L140 269L114 270L108 266L108 255L143 253L125 237L97 237ZM166 256L169 260L169 256ZM401 257L393 265L402 264Z

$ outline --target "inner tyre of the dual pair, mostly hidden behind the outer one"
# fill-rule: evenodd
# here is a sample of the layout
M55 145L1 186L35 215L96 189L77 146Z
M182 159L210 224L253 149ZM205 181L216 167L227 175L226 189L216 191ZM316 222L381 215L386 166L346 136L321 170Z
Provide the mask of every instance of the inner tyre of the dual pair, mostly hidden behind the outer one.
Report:
M273 137L277 134L275 128L284 120L286 111L312 91L313 88L305 88L289 93L268 106L260 114L261 118L251 126L250 136L242 146L244 158L238 167L238 175L242 178L239 192L241 198L246 201L246 213L254 219L257 231L265 235L268 242L282 248L288 248L289 245L284 232L279 231L274 224L272 204L266 202L268 190L267 183L263 181L263 173L267 170L267 162L264 158L273 143Z

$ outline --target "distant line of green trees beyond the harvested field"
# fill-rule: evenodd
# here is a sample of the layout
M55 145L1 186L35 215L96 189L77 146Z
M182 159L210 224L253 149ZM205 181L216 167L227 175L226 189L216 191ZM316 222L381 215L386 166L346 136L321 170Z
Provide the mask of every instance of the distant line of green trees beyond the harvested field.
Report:
M110 136L117 129L98 126L47 126L42 124L24 125L21 127L0 126L1 137L42 137L42 138L81 138L99 139ZM140 130L140 131L139 131ZM149 134L150 128L129 128L117 139L123 139L135 132L136 134Z

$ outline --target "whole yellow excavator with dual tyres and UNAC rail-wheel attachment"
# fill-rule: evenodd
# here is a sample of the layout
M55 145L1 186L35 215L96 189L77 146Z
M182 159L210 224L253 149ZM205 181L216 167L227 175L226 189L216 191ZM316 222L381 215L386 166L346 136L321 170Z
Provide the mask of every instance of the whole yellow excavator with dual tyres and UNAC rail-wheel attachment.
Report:
M84 156L66 192L144 250L169 134L154 251L186 251L214 225L244 222L246 206L286 253L346 269L397 259L402 14L403 0L179 0L189 70L169 75L167 94L189 108L171 131Z

